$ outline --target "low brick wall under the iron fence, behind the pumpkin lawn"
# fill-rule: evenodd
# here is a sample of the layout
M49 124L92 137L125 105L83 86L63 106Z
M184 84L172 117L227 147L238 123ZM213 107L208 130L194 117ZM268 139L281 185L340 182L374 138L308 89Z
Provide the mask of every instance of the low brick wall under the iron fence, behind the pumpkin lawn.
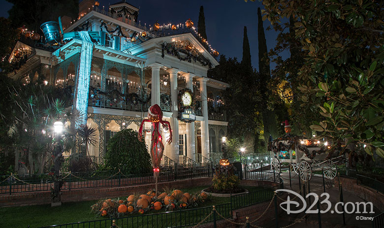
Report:
M184 179L171 182L158 183L159 190L165 187L174 189L183 189L196 186L207 186L212 184L212 177L201 177L193 179ZM125 187L113 188L88 188L73 189L71 191L62 191L63 202L78 202L87 200L97 200L104 197L127 196L135 192L146 193L149 189L154 189L154 184L144 184ZM0 195L0 207L5 206L27 206L51 203L50 192L31 192L31 193L14 193L12 195Z

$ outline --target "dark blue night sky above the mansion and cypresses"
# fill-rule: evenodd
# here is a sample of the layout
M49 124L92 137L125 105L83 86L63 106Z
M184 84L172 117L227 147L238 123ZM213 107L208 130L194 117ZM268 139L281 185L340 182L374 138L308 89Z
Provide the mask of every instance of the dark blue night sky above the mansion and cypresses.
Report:
M99 0L100 8L105 8L119 0ZM153 25L156 21L160 24L185 23L189 18L197 27L200 5L204 6L205 27L209 44L212 48L226 57L242 58L243 29L247 26L248 39L251 46L252 65L258 69L257 47L257 7L263 8L260 1L244 0L127 0L133 6L140 8L138 20ZM12 4L0 0L0 16L8 17L7 11ZM277 33L266 31L270 26L269 21L264 21L264 30L267 47L271 49L276 44ZM283 58L288 57L288 52L283 53ZM271 68L274 64L271 63Z

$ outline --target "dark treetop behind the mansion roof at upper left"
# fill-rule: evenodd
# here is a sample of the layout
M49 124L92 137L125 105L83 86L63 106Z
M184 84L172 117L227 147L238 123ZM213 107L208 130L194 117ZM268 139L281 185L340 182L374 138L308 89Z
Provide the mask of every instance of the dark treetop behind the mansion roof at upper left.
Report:
M9 19L16 27L25 25L28 29L40 31L40 25L57 21L59 16L76 19L79 14L78 0L7 0L12 3Z

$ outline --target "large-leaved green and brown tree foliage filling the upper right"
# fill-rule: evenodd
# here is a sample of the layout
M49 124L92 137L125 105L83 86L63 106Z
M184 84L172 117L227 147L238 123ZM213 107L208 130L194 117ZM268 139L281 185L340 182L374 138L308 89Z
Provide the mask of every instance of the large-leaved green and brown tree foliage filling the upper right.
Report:
M316 112L312 130L356 151L366 144L384 157L383 1L264 0L263 19L291 17L302 63L295 65L300 107ZM291 46L293 48L293 45ZM292 59L294 61L294 59ZM287 62L280 62L280 69ZM291 71L293 73L293 71ZM295 84L294 84L295 85ZM296 89L296 88L294 88Z

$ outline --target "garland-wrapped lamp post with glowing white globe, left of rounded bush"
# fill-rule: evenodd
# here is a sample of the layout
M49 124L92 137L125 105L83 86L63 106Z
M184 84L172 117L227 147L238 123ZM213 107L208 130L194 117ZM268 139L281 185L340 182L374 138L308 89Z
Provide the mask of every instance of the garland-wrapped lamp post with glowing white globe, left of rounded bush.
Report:
M63 157L63 145L61 142L62 132L63 132L63 122L56 121L53 124L53 128L55 131L54 134L54 143L53 143L53 161L54 161L54 189L52 189L52 202L51 206L61 206L62 200L61 200L61 194L60 190L63 186L63 180L60 175L60 166L62 163L62 157Z

